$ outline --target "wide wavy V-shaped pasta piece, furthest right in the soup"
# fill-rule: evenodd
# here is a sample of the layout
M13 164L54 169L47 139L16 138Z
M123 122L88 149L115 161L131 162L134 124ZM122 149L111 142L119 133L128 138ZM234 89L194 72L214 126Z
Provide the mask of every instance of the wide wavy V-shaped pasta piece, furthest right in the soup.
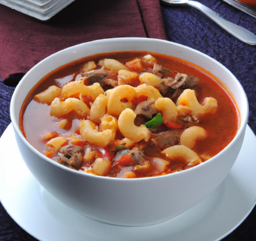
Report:
M212 97L205 98L201 105L197 100L195 91L191 89L186 89L181 93L180 97L177 99L176 105L188 107L192 115L214 114L218 109L217 100Z

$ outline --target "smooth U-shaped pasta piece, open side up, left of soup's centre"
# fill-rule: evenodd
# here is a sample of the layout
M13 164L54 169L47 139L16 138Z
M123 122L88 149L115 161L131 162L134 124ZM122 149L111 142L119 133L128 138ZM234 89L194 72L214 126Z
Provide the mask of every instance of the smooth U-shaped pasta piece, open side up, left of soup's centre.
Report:
M105 147L112 138L112 130L98 132L95 130L95 124L89 120L82 120L80 123L80 134L82 138L91 144Z

